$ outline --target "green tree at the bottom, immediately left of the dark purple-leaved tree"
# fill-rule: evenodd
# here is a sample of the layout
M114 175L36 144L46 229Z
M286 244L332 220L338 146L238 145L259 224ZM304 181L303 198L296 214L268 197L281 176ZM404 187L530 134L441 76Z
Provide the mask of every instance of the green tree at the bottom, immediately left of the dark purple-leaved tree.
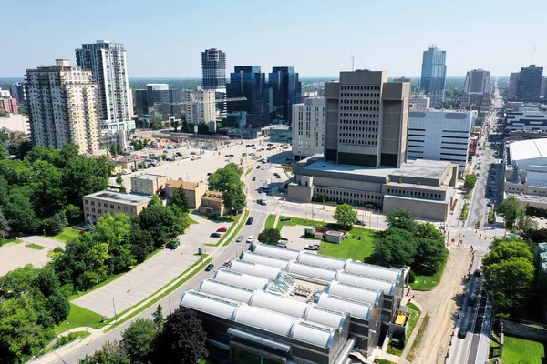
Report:
M136 319L121 333L121 346L131 362L146 363L160 330L151 319Z

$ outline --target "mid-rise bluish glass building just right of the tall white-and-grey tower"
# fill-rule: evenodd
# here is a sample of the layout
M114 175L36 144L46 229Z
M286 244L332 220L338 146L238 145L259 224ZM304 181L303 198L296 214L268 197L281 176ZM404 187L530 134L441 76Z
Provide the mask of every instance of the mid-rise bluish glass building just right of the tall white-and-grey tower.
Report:
M150 119L169 120L180 118L185 110L182 91L170 90L167 84L148 84L144 90L135 90L135 114L150 122Z

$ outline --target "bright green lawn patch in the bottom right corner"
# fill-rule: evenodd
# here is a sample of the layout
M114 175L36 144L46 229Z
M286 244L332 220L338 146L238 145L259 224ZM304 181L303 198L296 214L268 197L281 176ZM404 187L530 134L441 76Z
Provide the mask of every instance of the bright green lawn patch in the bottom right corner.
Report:
M545 345L538 341L505 335L503 341L503 364L542 364L545 360Z

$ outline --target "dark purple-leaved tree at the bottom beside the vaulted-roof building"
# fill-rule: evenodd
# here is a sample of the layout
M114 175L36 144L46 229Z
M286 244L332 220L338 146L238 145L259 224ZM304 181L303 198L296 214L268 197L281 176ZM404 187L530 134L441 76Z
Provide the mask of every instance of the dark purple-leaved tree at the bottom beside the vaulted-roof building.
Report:
M165 364L195 364L209 355L206 339L196 313L180 307L165 320L154 346L154 358Z

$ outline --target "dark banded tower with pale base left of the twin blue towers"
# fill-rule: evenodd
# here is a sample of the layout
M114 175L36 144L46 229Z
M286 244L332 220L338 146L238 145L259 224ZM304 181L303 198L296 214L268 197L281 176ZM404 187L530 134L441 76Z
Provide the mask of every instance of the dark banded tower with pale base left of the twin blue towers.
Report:
M226 93L226 53L211 48L201 52L201 85L204 90Z

